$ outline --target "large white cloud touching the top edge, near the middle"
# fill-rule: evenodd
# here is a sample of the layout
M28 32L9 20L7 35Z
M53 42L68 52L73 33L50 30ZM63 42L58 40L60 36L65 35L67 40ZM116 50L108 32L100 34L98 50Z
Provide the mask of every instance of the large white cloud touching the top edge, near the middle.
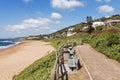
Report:
M84 4L78 0L51 0L51 4L53 8L57 9L71 9L77 6L84 6Z

